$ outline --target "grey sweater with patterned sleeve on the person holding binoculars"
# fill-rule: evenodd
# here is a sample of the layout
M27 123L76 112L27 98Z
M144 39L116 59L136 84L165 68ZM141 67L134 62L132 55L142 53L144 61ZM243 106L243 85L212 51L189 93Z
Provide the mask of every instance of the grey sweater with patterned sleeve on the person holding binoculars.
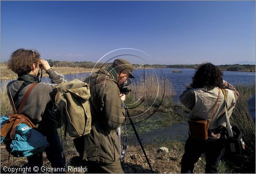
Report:
M51 117L53 115L53 88L56 84L65 81L63 79L63 75L58 74L52 68L47 70L46 73L49 75L52 84L37 83L36 86L32 89L31 93L29 94L27 102L25 103L25 106L21 111L21 114L24 114L28 118L30 118L34 125L37 125L42 120L42 118ZM9 98L10 95L12 97L15 96L18 89L22 86L23 83L24 81L18 80L11 81L10 83L8 83L7 93ZM23 97L28 88L30 87L30 85L31 84L27 85L22 90L20 90L19 94L17 95L17 100L15 102L16 110L18 110L18 107L22 102Z

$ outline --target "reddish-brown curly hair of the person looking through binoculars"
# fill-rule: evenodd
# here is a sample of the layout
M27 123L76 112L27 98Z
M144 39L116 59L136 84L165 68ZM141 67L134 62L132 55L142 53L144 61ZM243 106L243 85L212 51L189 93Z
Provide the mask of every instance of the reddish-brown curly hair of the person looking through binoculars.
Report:
M40 54L32 49L17 49L11 54L8 61L8 68L17 73L18 76L28 74L32 69L33 63L37 64Z

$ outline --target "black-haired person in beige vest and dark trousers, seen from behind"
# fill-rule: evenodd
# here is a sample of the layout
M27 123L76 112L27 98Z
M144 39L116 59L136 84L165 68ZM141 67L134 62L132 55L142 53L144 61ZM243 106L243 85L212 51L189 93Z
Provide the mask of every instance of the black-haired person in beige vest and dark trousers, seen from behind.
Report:
M222 80L222 76L217 66L205 63L198 68L193 82L180 95L180 102L190 110L189 119L209 121L207 139L195 138L189 132L181 160L181 173L193 173L195 163L204 152L205 173L218 172L218 163L225 150L223 134L226 130L225 99L220 91L223 88L226 91L229 117L239 96L232 85Z

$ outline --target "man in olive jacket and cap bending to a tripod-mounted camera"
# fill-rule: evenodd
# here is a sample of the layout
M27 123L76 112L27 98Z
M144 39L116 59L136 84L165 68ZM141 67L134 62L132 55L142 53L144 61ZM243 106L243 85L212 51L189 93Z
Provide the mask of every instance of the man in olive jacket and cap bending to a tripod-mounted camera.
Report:
M74 139L77 152L86 160L88 173L123 173L120 144L116 129L124 121L123 101L118 86L134 67L124 59L116 59L109 68L102 68L84 82L90 84L92 114L91 133Z

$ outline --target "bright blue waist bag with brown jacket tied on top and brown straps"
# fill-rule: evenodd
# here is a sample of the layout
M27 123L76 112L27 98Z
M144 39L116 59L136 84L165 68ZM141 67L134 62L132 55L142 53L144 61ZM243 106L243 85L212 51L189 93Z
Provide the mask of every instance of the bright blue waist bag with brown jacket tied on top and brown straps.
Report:
M36 84L32 84L26 91L25 96L20 103L18 111L14 106L11 97L13 115L2 115L1 121L1 143L6 144L7 151L14 157L28 157L38 152L44 152L49 145L46 137L39 133L33 123L25 115L20 114L29 93Z

